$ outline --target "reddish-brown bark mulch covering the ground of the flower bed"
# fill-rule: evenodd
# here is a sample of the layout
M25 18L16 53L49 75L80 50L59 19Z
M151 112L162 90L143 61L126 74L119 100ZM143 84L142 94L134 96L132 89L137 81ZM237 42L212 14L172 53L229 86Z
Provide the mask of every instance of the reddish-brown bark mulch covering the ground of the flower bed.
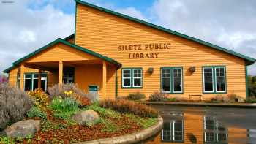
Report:
M53 123L65 124L66 121L54 118L52 113L48 111L48 120ZM88 140L97 140L102 138L118 137L124 134L131 134L143 129L135 121L130 120L125 115L121 118L108 118L107 121L111 121L116 124L118 128L115 132L105 132L102 129L105 128L104 124L95 124L94 126L79 126L72 125L66 129L49 129L46 132L39 131L35 134L34 138L30 140L30 143L75 143ZM28 140L23 140L23 143L28 143Z

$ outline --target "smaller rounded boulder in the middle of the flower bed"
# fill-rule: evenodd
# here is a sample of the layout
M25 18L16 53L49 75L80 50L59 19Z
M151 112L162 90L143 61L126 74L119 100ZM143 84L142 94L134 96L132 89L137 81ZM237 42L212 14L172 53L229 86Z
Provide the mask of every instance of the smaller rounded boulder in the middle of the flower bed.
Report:
M95 121L99 120L99 115L94 110L86 110L76 113L73 120L79 125L94 124Z

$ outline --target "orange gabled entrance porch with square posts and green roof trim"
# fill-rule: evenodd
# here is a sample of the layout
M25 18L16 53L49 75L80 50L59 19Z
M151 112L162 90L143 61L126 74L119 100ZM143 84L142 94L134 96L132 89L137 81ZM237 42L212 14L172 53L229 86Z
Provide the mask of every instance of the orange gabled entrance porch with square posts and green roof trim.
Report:
M48 87L76 83L88 92L90 85L97 85L99 99L115 97L115 73L121 67L117 61L63 39L45 47L16 61L19 63L20 89L26 90L26 68L31 68L38 69L37 81L33 81L37 88L42 87L42 73L48 73Z

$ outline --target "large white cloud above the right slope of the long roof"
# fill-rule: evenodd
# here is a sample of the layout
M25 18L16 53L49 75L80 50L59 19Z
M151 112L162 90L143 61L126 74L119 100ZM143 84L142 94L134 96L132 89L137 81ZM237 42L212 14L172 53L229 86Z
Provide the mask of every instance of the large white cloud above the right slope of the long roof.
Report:
M154 23L256 58L256 1L157 0ZM256 65L250 67L256 75Z

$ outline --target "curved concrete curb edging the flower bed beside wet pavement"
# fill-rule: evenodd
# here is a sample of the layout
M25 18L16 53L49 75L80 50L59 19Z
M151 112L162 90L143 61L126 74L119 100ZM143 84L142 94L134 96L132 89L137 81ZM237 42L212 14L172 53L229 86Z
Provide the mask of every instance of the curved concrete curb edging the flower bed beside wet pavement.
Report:
M138 143L140 141L146 140L149 137L154 136L162 129L163 119L161 116L157 118L157 124L149 127L148 129L143 129L140 132L135 132L133 134L127 134L119 137L105 138L99 140L91 140L86 142L78 142L73 144L131 144Z

